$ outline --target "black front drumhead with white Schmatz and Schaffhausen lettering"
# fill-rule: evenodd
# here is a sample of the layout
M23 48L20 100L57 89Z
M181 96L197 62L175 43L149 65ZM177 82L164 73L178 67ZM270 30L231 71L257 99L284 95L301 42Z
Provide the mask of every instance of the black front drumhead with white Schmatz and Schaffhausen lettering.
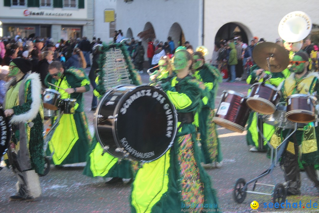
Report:
M115 142L124 148L129 158L154 161L173 145L177 113L163 90L152 86L135 87L121 98L115 114Z

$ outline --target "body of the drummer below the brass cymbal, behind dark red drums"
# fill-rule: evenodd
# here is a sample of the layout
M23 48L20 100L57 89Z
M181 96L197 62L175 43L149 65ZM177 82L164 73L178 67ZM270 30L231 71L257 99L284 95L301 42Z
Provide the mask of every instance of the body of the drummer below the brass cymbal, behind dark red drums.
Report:
M248 76L246 82L248 84L254 84L257 82L263 82L263 77L268 74L271 75L271 79L267 80L265 83L273 85L275 87L278 87L278 85L285 80L289 75L290 72L288 69L283 70L282 72L269 72L265 71L263 69L260 69L257 65L254 65L250 68L251 72ZM250 90L248 90L248 94L250 93ZM263 120L261 116L258 116L256 112L251 112L249 114L249 118L247 121L247 135L246 135L246 141L247 145L251 146L249 151L251 152L258 152L258 151L267 151L267 141L263 141L263 139L260 137L258 131L257 131L257 125L258 129L263 131L263 135L267 140L270 140L271 135L275 131L275 127L266 123L263 123ZM263 149L259 147L259 144L263 143Z

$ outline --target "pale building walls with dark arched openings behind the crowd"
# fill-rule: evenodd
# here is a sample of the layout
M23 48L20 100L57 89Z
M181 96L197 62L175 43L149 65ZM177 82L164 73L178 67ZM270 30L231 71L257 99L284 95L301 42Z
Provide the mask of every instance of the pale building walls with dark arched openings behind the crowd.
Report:
M241 34L244 42L257 36L275 42L278 24L288 13L303 11L313 24L319 24L315 0L300 4L297 0L118 0L116 25L122 32L134 37L153 28L156 39L166 41L172 36L175 47L178 42L189 41L194 48L204 45L211 57L214 42ZM147 44L144 42L144 46Z

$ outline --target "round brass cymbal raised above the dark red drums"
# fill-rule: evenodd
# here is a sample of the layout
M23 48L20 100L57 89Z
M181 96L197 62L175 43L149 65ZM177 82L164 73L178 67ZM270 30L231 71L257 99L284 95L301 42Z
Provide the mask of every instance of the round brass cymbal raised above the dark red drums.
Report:
M270 62L270 70L268 58ZM283 47L272 42L262 42L255 46L253 58L256 64L271 72L281 72L287 68L289 64L289 53Z

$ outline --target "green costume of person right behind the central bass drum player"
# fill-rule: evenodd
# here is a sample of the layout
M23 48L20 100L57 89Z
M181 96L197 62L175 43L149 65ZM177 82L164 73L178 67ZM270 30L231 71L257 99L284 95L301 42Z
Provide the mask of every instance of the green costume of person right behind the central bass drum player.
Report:
M221 162L223 156L216 125L212 121L215 114L215 97L218 84L221 81L221 74L215 67L204 64L195 71L194 77L202 81L210 93L210 98L207 96L202 97L203 107L195 118L196 126L198 127L197 131L200 133L201 151L203 154L202 161L204 164Z

